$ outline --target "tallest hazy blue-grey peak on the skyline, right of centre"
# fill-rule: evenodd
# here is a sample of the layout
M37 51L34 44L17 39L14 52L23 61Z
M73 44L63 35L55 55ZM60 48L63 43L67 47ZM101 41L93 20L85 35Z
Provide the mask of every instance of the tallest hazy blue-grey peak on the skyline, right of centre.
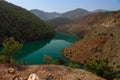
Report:
M82 17L88 15L89 13L90 12L85 10L85 9L78 8L78 9L63 13L61 15L61 17L65 17L65 18L68 18L70 20L76 20L76 19L79 19L79 18L82 18Z

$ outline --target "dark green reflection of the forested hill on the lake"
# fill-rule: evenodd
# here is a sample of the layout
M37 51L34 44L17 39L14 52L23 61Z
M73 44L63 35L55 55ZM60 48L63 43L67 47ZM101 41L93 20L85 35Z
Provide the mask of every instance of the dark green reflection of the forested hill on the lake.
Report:
M44 41L32 41L32 42L26 42L23 44L23 47L21 49L21 51L17 54L15 54L15 59L19 60L27 55L29 55L30 53L44 47L46 44L48 44L50 42L51 39L47 39Z

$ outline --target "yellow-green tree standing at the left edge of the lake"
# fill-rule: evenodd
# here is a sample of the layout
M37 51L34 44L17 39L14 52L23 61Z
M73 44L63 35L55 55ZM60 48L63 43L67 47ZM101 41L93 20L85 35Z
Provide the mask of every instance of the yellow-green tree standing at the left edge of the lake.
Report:
M22 44L19 41L15 41L13 37L10 37L5 39L2 45L2 53L6 57L5 63L11 64L13 55L21 49Z

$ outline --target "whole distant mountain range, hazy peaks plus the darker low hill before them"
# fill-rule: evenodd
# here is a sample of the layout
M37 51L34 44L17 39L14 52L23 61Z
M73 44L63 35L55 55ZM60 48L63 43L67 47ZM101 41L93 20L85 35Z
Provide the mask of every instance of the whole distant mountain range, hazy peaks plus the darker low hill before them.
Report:
M32 9L30 12L32 12L34 15L45 21L49 26L51 27L58 27L65 24L70 24L71 22L74 22L76 20L80 20L84 16L96 13L96 12L106 12L107 10L98 9L95 11L88 11L82 8L77 8L71 11L67 11L64 13L58 13L58 12L45 12L38 9Z

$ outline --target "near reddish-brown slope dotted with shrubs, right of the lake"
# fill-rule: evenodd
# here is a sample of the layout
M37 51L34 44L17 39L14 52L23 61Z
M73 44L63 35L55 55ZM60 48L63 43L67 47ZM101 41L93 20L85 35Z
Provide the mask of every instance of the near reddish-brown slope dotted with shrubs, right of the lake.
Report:
M86 28L84 39L63 50L64 56L81 64L95 58L108 58L109 65L120 70L120 11L99 13L94 21Z

